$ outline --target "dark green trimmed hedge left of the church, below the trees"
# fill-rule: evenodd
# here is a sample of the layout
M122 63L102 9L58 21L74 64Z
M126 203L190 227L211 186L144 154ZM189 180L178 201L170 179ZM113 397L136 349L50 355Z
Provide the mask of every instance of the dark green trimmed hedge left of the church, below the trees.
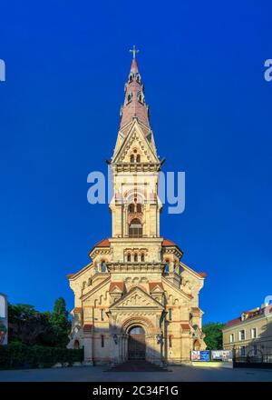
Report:
M56 363L73 365L83 361L83 349L24 345L14 342L0 346L0 368L45 368Z

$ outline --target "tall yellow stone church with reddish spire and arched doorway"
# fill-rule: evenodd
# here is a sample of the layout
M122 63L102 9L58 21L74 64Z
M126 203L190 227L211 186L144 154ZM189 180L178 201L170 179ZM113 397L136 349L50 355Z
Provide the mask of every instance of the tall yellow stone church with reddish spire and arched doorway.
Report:
M206 275L180 262L180 247L160 235L162 162L135 53L109 164L112 237L93 246L89 265L67 275L74 293L68 346L84 347L90 365L188 362L191 349L205 348L199 291Z

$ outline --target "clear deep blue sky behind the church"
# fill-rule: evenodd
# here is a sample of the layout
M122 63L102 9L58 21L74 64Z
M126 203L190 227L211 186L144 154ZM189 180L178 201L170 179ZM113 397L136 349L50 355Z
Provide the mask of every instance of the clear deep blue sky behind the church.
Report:
M1 5L0 291L52 309L65 275L111 235L89 205L106 173L136 44L164 171L186 172L186 209L161 235L208 274L204 321L272 295L272 58L268 1L19 2Z

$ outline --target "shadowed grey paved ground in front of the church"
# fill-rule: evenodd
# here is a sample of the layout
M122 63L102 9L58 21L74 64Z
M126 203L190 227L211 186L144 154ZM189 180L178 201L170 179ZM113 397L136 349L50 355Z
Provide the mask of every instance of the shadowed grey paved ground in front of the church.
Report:
M170 372L105 372L102 366L0 371L0 382L272 382L272 370L170 366Z

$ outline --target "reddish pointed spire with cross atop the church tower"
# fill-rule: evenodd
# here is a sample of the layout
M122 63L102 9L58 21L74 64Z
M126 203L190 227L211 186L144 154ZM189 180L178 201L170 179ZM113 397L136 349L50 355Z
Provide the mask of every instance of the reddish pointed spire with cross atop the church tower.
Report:
M125 99L121 107L120 126L122 127L129 124L131 120L136 117L141 123L150 127L149 107L145 104L144 88L135 56L139 50L136 50L134 45L133 50L130 51L133 54L133 58L131 62L131 72L125 84Z

